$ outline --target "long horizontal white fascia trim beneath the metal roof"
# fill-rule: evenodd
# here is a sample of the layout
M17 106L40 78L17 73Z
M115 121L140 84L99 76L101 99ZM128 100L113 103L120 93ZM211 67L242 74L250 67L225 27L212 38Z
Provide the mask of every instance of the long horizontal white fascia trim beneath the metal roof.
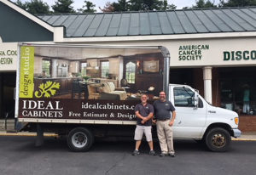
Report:
M207 39L227 37L256 37L256 31L225 32L225 33L201 33L181 35L152 35L152 36L124 36L124 37L59 37L55 42L126 42L126 41L150 41L150 40L183 40L183 39Z

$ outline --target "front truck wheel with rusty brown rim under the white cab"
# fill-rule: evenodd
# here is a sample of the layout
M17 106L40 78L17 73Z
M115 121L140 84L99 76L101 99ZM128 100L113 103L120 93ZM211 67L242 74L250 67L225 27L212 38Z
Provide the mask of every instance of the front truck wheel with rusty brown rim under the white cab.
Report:
M207 132L205 141L209 150L224 152L230 147L231 136L224 128L215 127Z

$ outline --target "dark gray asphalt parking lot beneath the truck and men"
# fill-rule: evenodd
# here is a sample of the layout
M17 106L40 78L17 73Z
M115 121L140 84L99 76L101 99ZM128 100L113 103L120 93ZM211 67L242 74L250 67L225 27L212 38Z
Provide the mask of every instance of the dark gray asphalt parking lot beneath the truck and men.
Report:
M47 137L34 147L34 137L0 136L1 174L239 174L255 172L256 142L232 141L230 151L207 151L193 140L175 141L177 156L131 155L133 142L97 141L89 152L74 153L65 139ZM158 143L155 150L160 153Z

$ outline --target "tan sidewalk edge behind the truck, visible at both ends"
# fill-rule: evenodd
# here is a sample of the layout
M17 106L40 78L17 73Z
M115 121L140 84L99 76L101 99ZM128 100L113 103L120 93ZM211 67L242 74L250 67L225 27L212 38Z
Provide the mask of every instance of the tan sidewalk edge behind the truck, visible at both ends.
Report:
M37 133L19 132L19 133L9 133L0 131L0 136L31 136L35 137ZM55 133L44 133L45 137L58 137ZM256 141L256 133L242 133L239 138L232 138L233 141Z

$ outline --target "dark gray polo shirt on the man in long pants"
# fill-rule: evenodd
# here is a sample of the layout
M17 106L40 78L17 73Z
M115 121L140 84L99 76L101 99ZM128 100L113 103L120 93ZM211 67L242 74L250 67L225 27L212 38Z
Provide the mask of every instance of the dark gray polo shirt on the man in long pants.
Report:
M171 112L175 110L171 101L154 101L154 116L157 120L171 119Z

